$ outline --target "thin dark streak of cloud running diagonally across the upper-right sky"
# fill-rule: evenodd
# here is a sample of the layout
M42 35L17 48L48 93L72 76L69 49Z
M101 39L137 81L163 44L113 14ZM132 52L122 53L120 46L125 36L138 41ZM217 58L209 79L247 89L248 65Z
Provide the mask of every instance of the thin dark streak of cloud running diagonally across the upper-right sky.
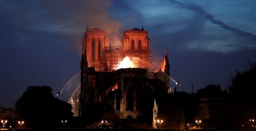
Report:
M213 15L211 15L209 13L206 13L201 7L198 7L197 5L194 5L194 4L187 5L185 3L178 2L176 0L171 0L171 2L179 5L182 8L187 8L189 10L193 10L197 13L200 13L200 14L204 15L211 23L213 23L215 25L218 25L223 29L230 30L234 34L239 35L242 38L249 39L249 41L253 41L253 44L255 44L256 35L254 35L252 33L249 33L249 32L245 32L243 30L240 30L240 29L237 29L237 28L234 28L234 27L230 27L229 25L223 23L222 21L217 20L216 18L214 18Z

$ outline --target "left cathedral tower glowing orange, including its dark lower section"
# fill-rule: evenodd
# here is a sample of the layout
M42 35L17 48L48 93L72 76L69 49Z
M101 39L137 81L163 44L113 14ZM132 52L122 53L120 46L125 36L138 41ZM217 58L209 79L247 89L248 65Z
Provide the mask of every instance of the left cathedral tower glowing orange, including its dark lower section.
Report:
M80 115L96 101L95 69L99 68L100 49L108 44L106 31L87 27L82 43Z

